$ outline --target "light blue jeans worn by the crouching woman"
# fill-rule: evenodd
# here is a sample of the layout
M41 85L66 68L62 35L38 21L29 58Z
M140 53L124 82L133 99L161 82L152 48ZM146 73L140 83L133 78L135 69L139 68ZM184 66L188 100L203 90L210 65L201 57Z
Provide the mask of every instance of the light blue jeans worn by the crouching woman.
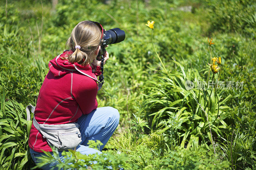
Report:
M102 153L100 152L108 142L108 139L112 136L119 123L119 112L112 107L100 107L92 110L88 115L82 115L76 122L80 125L82 142L76 147L76 151L85 155ZM100 140L103 145L100 146L100 151L89 148L88 140ZM52 155L53 153L50 152ZM59 152L61 158L62 151ZM35 163L38 162L38 157L44 155L43 152L35 152L30 148L30 154ZM63 160L64 161L64 160ZM41 167L41 169L55 170L56 162L51 162Z

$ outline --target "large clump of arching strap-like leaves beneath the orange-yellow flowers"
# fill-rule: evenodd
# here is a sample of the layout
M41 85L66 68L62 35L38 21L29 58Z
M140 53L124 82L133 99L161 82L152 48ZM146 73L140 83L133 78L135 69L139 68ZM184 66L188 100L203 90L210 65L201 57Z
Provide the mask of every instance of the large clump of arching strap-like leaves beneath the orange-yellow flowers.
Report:
M217 96L212 95L210 100L210 89L186 89L186 81L198 82L202 80L196 69L184 69L180 63L174 62L179 68L180 72L172 71L167 76L163 72L159 72L158 82L152 82L147 88L148 94L145 96L148 99L143 103L143 107L140 112L146 113L147 120L151 124L151 131L157 130L159 134L167 131L170 127L163 124L162 120L173 121L173 114L175 116L175 122L182 122L181 128L177 131L179 137L183 137L180 145L187 147L191 145L198 146L198 142L202 141L206 147L208 147L208 141L211 140L209 126L206 120L206 114L200 105L203 106L208 114L208 120L212 130L217 135L217 138L221 138L223 130L228 130L228 124L225 119L229 117L228 111L230 107L225 106L224 103L236 96L227 96L220 101L220 114L218 115L218 100ZM219 98L222 97L224 90L217 91ZM198 104L194 97L198 100ZM209 103L208 103L209 102ZM208 106L209 105L209 106ZM218 116L218 117L217 117ZM208 137L205 138L205 137ZM199 140L200 138L200 140ZM212 141L211 141L212 142ZM194 143L194 144L193 144Z

